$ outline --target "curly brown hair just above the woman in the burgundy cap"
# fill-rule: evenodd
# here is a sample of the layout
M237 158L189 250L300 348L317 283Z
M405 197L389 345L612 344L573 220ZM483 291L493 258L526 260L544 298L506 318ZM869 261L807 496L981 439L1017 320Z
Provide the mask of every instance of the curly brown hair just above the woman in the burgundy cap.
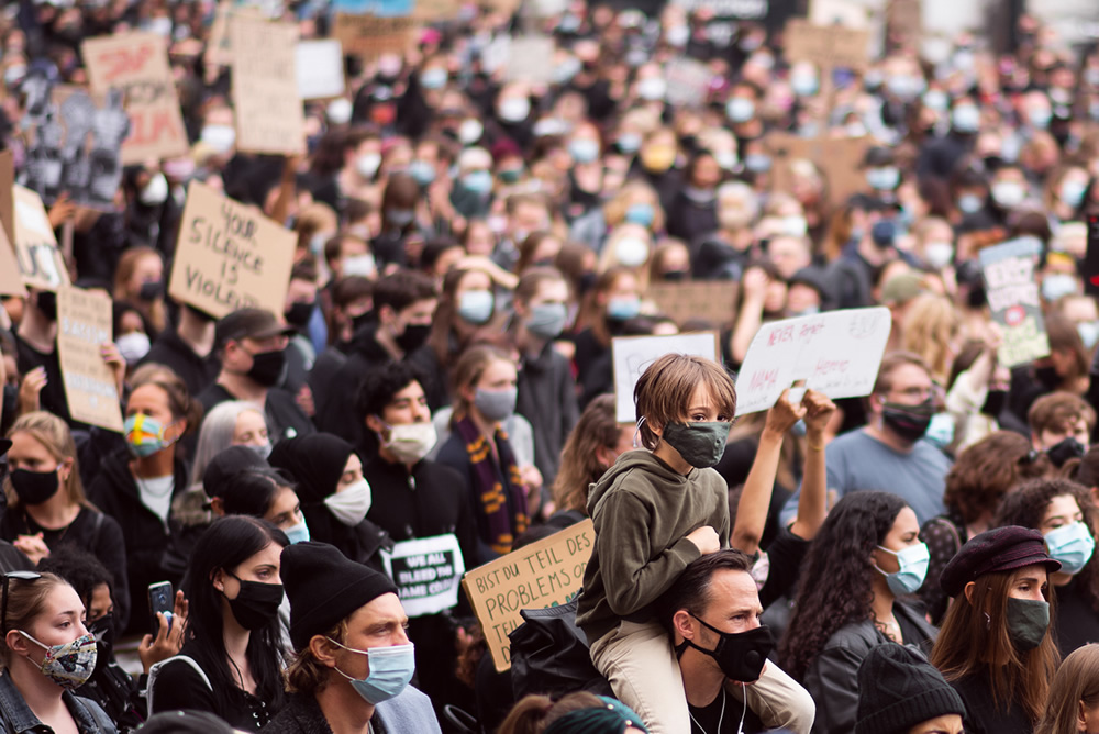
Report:
M1021 434L997 431L958 456L946 475L943 504L972 523L986 512L995 514L1003 496L1020 482L1041 479L1051 469L1050 458L1032 451Z

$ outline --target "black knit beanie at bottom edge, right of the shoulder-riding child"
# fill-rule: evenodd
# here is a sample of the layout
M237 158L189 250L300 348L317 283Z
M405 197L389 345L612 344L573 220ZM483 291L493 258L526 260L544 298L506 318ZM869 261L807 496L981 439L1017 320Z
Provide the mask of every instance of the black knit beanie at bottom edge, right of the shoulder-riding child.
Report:
M917 724L956 713L962 698L918 653L886 643L858 666L858 723L855 734L906 734Z

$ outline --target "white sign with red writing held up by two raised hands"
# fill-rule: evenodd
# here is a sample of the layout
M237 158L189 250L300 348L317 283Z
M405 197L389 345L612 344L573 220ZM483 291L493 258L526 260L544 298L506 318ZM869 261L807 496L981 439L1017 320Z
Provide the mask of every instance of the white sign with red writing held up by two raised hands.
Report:
M870 394L890 326L884 307L764 324L736 376L736 414L769 409L800 380L833 400Z

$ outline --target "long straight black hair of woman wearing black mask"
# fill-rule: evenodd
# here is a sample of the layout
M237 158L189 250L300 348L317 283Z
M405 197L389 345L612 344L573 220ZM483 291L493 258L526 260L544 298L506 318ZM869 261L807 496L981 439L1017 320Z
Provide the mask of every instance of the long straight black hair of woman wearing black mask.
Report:
M222 596L213 588L218 569L233 570L271 543L281 547L290 544L286 534L274 525L246 515L229 515L215 520L195 545L190 565L184 578L184 592L190 602L188 652L210 677L217 713L236 705L236 677L230 670L225 650L221 603ZM275 618L264 627L253 630L246 656L256 680L256 697L267 704L273 715L286 702L282 685L282 655L279 621Z

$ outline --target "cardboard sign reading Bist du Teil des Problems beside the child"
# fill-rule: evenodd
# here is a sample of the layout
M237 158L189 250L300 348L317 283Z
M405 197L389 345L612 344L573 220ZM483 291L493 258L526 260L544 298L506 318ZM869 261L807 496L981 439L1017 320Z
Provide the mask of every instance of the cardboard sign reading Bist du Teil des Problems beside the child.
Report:
M585 520L475 568L462 579L498 671L511 667L508 634L523 623L519 612L571 601L584 583L595 543L596 530L591 520Z

